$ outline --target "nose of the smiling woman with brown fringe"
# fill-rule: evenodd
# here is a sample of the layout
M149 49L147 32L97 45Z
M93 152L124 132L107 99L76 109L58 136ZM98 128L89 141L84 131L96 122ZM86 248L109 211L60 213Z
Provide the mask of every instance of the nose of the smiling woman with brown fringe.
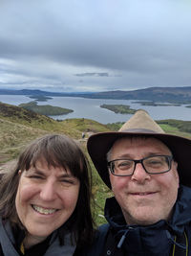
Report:
M40 191L40 198L43 200L53 200L56 197L56 188L55 184L52 181L46 181L42 186L41 186L41 191Z

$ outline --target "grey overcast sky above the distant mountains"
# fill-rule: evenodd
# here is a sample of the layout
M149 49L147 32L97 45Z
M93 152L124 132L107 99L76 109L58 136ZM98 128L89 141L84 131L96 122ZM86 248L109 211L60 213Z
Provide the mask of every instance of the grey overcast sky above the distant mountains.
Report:
M0 0L0 88L191 86L191 0Z

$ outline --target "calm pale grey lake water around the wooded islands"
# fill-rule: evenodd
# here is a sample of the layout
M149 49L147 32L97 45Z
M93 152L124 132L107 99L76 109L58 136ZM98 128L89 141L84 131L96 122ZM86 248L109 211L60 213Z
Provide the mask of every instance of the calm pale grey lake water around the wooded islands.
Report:
M0 102L19 105L22 103L32 102L33 99L21 95L0 95ZM191 108L181 106L145 106L134 104L136 101L129 100L100 100L100 99L84 99L74 97L53 97L47 102L38 102L38 105L56 105L73 109L74 112L67 115L51 116L53 119L64 120L67 118L88 118L93 119L102 124L125 122L132 115L116 114L110 110L101 108L100 105L130 105L134 109L145 109L155 120L160 119L179 119L191 120Z

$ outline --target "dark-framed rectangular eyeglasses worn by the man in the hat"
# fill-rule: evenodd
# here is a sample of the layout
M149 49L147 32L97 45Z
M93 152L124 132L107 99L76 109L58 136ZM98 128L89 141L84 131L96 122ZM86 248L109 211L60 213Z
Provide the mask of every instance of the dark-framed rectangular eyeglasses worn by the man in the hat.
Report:
M130 176L140 163L147 174L159 175L171 170L172 160L172 155L148 156L139 160L115 159L108 162L108 168L112 175Z

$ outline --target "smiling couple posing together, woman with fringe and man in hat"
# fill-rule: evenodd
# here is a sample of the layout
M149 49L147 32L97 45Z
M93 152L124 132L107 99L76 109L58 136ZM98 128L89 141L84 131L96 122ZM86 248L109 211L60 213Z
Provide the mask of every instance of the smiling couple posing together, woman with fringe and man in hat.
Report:
M63 135L21 154L0 187L0 255L191 255L191 141L164 133L144 110L92 135L88 151L113 191L93 228L89 164Z

